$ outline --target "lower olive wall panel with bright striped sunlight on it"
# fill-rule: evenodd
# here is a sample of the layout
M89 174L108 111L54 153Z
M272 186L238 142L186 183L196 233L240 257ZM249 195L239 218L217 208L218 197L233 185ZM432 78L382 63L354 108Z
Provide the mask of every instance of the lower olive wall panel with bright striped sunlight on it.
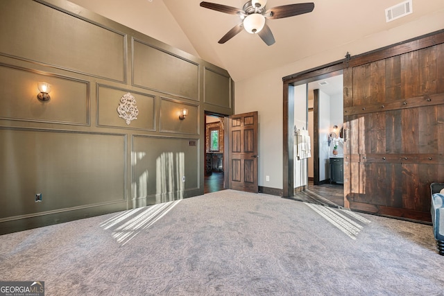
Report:
M199 142L197 137L133 135L133 207L144 207L195 195L199 189L201 171L200 168L194 167L200 159Z

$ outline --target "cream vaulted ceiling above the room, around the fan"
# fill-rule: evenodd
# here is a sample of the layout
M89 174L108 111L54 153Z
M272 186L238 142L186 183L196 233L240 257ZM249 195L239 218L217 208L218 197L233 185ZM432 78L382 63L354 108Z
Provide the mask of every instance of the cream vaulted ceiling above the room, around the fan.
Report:
M385 9L402 0L313 0L315 5L313 12L284 19L267 19L266 24L271 28L276 41L275 44L267 46L259 36L246 31L242 31L225 44L219 44L221 37L241 20L237 15L200 7L201 0L72 1L80 6L84 3L86 8L96 6L96 12L111 19L107 12L114 10L114 15L115 12L119 14L114 20L125 24L126 19L131 19L133 23L137 22L138 27L135 30L142 33L146 32L143 30L144 23L145 26L157 24L155 28L149 28L148 35L180 48L176 44L171 44L175 42L169 41L165 34L162 35L162 30L172 30L168 27L176 26L191 44L182 50L227 69L234 81L244 80L257 73L313 55L327 53L335 48L346 48L349 43L359 42L402 24L433 16L436 12L442 13L444 10L443 0L413 0L412 14L386 22ZM242 8L246 0L210 0L210 2ZM268 0L266 7L302 2L306 1ZM98 3L101 3L100 8ZM141 12L144 9L146 11ZM176 24L173 24L175 21ZM441 28L444 28L444 19L441 21L443 23ZM387 45L398 42L385 41ZM366 49L363 49L362 52L351 54L356 55L365 51ZM343 55L337 57L337 60L343 58L345 54L346 50Z

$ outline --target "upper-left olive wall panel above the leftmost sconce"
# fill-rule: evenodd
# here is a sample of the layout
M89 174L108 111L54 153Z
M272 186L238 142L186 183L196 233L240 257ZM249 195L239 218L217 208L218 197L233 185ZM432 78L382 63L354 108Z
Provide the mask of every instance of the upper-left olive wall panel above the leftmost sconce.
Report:
M44 15L51 22L42 21L35 15ZM30 28L27 31L20 30L20 26L0 28L3 40L0 55L126 82L126 34L40 0L0 1L0 17L6 21L9 19L10 23L26 23ZM52 26L54 22L60 26ZM42 36L51 36L46 38L51 42L42 42ZM95 67L98 61L101 67Z

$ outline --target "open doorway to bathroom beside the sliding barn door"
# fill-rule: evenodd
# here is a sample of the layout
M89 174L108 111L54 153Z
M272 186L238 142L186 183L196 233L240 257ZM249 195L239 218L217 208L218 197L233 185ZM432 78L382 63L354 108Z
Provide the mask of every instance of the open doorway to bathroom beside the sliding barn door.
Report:
M293 83L295 130L307 129L311 157L307 159L306 180L298 181L301 172L294 170L296 199L343 207L343 75L337 71L329 76L314 77ZM291 104L289 104L291 105ZM305 106L305 112L298 111ZM341 162L342 161L342 162ZM298 168L298 157L294 168ZM305 193L299 193L302 188Z

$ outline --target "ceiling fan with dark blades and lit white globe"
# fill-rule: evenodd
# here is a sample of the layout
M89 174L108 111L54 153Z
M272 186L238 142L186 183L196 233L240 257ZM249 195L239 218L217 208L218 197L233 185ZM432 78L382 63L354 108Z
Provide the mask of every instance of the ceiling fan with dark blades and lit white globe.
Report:
M271 33L270 27L265 23L266 19L282 19L284 17L293 17L295 15L302 15L303 13L311 12L314 9L314 3L297 3L284 6L276 6L270 9L265 8L266 0L250 0L244 4L242 9L226 6L223 4L200 2L200 6L216 10L219 12L228 13L230 15L238 15L241 23L237 24L228 33L223 35L220 44L223 44L237 35L244 28L245 31L252 34L257 34L261 39L270 46L275 43L275 37Z

